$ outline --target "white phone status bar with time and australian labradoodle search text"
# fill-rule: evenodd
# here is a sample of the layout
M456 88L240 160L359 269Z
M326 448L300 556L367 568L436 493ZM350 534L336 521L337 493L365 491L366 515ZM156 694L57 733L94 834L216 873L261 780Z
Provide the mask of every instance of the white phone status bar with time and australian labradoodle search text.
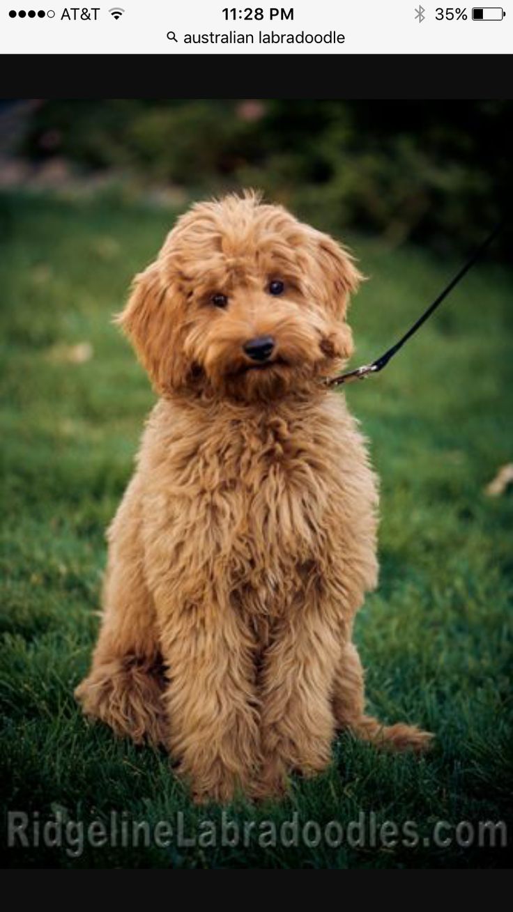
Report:
M513 47L513 3L485 7L495 10L489 14L495 18L482 22L473 20L471 5L403 0L293 0L283 5L275 0L235 7L227 0L123 0L91 6L0 0L0 8L2 54L510 54ZM110 13L116 9L123 11L119 17ZM255 18L257 9L263 18ZM289 10L293 18L285 18ZM20 17L20 11L36 16ZM45 16L38 16L39 11ZM246 19L248 15L253 18ZM331 43L277 41L301 33L331 36ZM207 40L187 43L186 36ZM267 43L262 36L275 41ZM336 36L344 36L343 42ZM379 78L380 64L376 66Z

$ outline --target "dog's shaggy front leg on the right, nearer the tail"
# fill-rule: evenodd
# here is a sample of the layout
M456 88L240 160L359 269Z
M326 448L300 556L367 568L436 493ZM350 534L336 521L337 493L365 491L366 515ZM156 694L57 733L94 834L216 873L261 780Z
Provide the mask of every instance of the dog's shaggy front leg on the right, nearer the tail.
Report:
M277 626L261 679L261 795L282 792L292 769L312 775L330 762L339 655L338 630L319 605L298 606Z

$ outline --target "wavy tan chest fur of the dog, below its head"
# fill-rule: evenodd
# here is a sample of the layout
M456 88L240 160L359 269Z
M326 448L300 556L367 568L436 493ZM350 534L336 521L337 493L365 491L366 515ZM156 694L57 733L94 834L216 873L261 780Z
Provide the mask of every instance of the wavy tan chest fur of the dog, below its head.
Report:
M349 554L375 500L343 400L154 409L141 448L153 594L283 615ZM372 529L370 533L372 534Z

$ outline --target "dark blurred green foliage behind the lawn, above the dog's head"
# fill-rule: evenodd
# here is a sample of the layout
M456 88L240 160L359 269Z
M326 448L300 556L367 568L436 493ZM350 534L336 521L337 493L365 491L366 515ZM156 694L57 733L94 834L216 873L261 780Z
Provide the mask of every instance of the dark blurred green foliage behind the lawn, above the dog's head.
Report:
M406 78L406 76L405 76ZM23 150L143 185L211 194L251 185L327 230L444 253L513 203L508 101L48 100ZM503 238L495 254L507 258Z

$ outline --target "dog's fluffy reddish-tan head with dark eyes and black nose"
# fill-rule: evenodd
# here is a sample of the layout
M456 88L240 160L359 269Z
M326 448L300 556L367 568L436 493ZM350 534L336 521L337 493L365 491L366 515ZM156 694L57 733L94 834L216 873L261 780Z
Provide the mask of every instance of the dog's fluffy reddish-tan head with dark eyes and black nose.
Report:
M340 368L361 275L327 234L256 194L193 206L119 317L165 395L272 399Z

